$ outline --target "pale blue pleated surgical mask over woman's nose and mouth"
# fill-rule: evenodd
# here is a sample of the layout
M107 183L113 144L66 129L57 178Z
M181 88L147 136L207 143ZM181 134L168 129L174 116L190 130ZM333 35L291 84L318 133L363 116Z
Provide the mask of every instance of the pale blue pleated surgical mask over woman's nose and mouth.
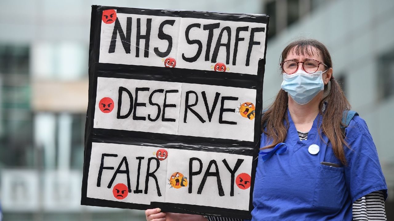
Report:
M325 70L324 72L326 72ZM298 70L294 74L283 73L282 89L298 104L309 103L316 95L324 90L323 73L317 71L309 74Z

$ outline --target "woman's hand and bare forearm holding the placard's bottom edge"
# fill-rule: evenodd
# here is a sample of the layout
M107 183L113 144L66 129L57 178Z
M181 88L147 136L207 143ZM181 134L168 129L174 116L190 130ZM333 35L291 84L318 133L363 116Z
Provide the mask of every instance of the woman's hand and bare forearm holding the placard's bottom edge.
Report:
M206 221L202 215L164 213L160 208L145 210L147 221Z

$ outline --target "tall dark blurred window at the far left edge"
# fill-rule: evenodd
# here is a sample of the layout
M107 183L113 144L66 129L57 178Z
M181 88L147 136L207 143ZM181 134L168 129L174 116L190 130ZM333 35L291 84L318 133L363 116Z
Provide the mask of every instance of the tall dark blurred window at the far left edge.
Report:
M30 49L0 44L0 165L33 164Z

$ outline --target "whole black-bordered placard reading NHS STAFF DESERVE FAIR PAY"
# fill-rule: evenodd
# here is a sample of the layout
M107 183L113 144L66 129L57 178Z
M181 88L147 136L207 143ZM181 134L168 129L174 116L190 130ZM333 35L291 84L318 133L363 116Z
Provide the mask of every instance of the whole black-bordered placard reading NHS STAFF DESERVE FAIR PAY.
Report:
M250 218L269 17L92 7L81 203Z

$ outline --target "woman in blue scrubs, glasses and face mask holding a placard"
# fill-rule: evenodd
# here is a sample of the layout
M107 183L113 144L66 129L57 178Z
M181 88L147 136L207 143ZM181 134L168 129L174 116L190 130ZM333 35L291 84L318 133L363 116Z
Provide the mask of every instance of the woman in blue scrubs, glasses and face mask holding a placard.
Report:
M292 42L281 67L282 89L262 117L260 154L276 145L286 151L263 153L258 162L253 220L385 220L387 185L376 147L361 117L342 120L350 105L327 48L316 40ZM145 214L148 221L206 220L156 209Z

